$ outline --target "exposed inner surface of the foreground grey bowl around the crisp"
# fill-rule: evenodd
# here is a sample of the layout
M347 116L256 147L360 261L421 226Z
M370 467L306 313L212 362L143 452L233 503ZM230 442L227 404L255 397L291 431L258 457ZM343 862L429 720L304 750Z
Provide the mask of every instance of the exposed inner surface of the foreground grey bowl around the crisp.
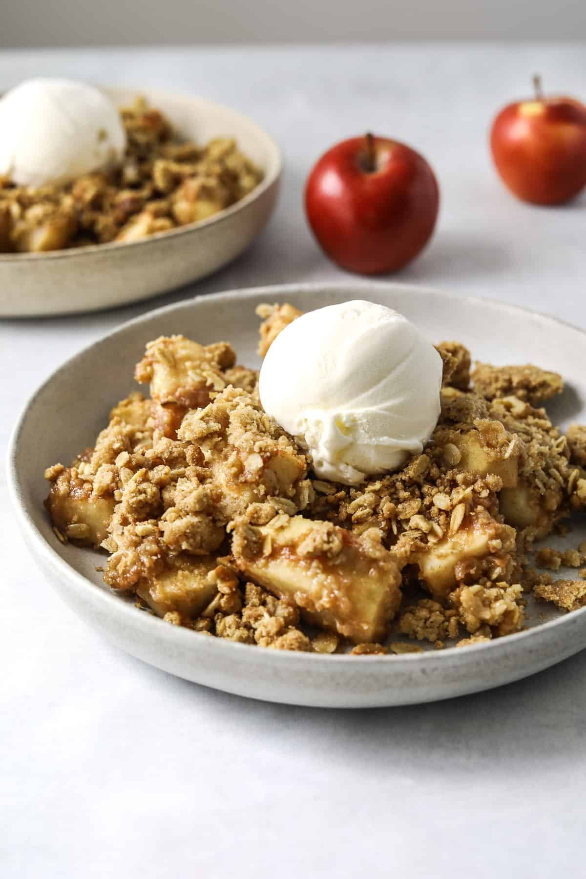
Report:
M258 303L291 301L309 310L350 299L369 299L390 306L409 317L430 340L458 339L479 360L495 364L533 362L561 372L567 388L549 407L553 421L567 425L571 420L586 419L586 376L582 367L586 337L582 331L551 318L498 302L462 299L402 285L307 285L216 294L157 309L127 323L69 360L40 388L13 439L13 478L29 524L63 561L105 590L96 570L104 556L72 545L62 546L52 532L42 506L47 495L42 474L56 461L69 464L76 453L92 445L107 423L112 405L137 389L134 364L141 359L148 340L177 332L204 344L224 339L235 345L239 362L257 366ZM578 526L568 545L576 546L585 536L586 529ZM548 539L547 543L555 545L555 540ZM539 606L539 613L532 615L530 623L543 621L539 614L544 610L547 618L558 615L549 606Z

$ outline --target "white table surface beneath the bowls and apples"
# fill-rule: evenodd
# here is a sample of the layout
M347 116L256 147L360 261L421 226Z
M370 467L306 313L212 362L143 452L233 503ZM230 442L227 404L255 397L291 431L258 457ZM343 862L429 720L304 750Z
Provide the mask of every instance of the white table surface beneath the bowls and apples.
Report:
M234 105L286 157L258 243L197 287L90 316L0 323L0 441L49 370L166 302L231 287L345 280L301 212L311 164L372 128L438 173L430 248L400 280L517 302L586 327L586 199L539 209L488 158L496 110L528 91L586 96L586 47L58 50L0 54L33 75L193 91ZM0 277L0 283L2 282ZM0 875L583 875L586 654L520 683L362 712L274 706L174 679L114 650L45 584L2 473Z

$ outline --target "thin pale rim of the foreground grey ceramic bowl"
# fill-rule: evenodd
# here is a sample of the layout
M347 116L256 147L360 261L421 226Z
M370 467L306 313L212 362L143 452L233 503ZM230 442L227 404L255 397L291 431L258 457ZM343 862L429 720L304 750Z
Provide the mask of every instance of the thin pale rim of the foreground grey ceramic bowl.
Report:
M125 600L121 600L120 597L112 590L92 583L90 579L84 577L83 574L79 573L79 571L77 571L63 558L61 558L61 556L56 552L51 544L40 533L39 529L33 521L32 516L25 506L25 502L23 500L23 491L21 489L21 480L18 475L17 469L19 439L21 433L25 429L25 421L28 416L28 412L33 407L34 403L37 400L37 397L40 396L47 388L47 385L54 381L54 378L56 378L58 374L60 374L61 372L65 372L69 370L70 367L74 366L76 360L85 357L90 351L98 348L105 342L110 341L112 338L116 338L117 336L122 335L131 327L139 326L141 323L148 323L148 321L150 321L153 317L163 316L164 314L170 314L174 311L180 312L183 309L189 309L193 306L194 303L198 302L199 300L215 302L232 301L235 295L238 296L239 300L255 299L261 295L267 296L269 298L274 296L284 298L287 294L291 293L307 292L313 294L327 294L333 290L337 293L344 293L344 291L348 291L348 294L351 294L353 298L356 298L358 287L361 288L361 292L364 292L365 296L367 296L369 292L376 293L380 290L388 290L389 292L391 292L394 289L402 291L408 289L409 294L413 294L416 296L422 294L435 296L439 295L452 301L466 301L471 305L474 305L475 303L478 303L480 301L483 305L486 305L489 308L504 309L505 311L508 311L511 317L524 316L526 318L527 316L532 316L532 318L538 319L542 323L550 324L553 326L564 326L567 329L577 331L586 340L586 330L582 330L582 328L577 327L575 326L575 324L569 323L568 321L561 320L551 315L546 315L539 311L534 311L532 309L526 308L525 306L514 305L509 302L495 299L493 297L460 295L452 293L450 291L438 289L437 287L425 287L423 285L411 285L401 282L376 280L362 282L357 281L354 283L346 281L341 284L334 281L310 281L301 282L298 284L287 283L266 286L262 285L257 287L235 288L231 290L224 290L215 294L199 294L196 296L192 296L190 299L173 302L170 305L163 305L158 309L151 309L143 315L134 317L131 320L119 324L119 326L116 327L114 330L105 333L104 336L101 336L100 338L94 340L90 343L90 345L85 345L80 351L74 353L67 360L63 361L60 366L56 367L51 372L51 374L49 374L47 378L42 381L35 390L33 390L33 393L28 397L22 410L20 411L16 424L12 428L11 436L8 443L8 454L6 460L8 491L11 498L11 503L16 510L21 530L24 531L24 533L32 539L37 554L41 556L43 560L54 570L56 570L56 572L63 578L69 579L84 590L88 590L88 587L90 587L87 592L87 597L94 605L99 604L106 610L112 608L113 614L119 614L120 618L127 620L128 623L134 628L143 627L145 635L151 638L158 638L159 640L163 640L169 644L178 643L185 647L189 647L190 644L193 645L192 639L194 636L199 635L198 632L194 632L191 629L181 626L170 626L169 623L165 624L162 619L155 615L147 613L141 614L137 611L136 607L134 607L134 604ZM516 650L517 645L526 642L528 639L534 639L538 636L538 633L546 631L551 632L553 629L559 628L561 626L565 626L566 628L568 628L568 626L570 626L572 622L578 621L579 619L583 618L584 614L586 614L586 607L582 607L578 610L572 611L571 614L563 614L559 617L555 617L553 620L539 623L539 625L533 626L532 628L527 628L525 630L515 632L512 635L506 636L504 638L495 638L488 643L471 644L467 646L466 655L467 657L471 657L473 654L478 655L481 651L514 651ZM265 650L251 650L251 648L256 648L257 645L235 643L227 638L209 638L202 636L198 639L197 645L198 650L202 650L206 654L209 653L210 655L212 655L217 650L235 650L236 653L240 653L242 659L246 657L247 661L250 661L252 663L256 662L257 660L260 661L262 657L266 656ZM244 652L242 653L242 651ZM417 665L422 665L424 667L425 665L434 664L437 660L439 660L440 662L443 661L441 657L453 658L454 651L457 651L458 653L461 652L459 648L454 646L447 647L444 650L426 650L423 653L403 653L399 655L389 654L351 657L348 654L340 653L307 654L305 652L295 650L272 650L271 661L279 663L280 665L284 665L305 661L307 656L311 656L312 661L314 662L325 660L328 663L339 664L348 663L352 659L354 659L356 662L359 661L360 664L364 663L364 661L367 660L371 664L377 665L388 662L392 662L393 664L399 663L400 665L416 663ZM446 659L445 661L447 662L448 660Z

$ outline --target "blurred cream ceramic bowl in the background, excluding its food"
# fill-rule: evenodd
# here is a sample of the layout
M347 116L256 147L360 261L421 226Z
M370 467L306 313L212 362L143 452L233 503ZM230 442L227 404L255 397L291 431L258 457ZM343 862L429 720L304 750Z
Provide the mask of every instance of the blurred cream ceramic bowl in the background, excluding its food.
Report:
M204 278L244 251L277 203L279 147L250 119L204 98L105 89L116 105L143 95L185 138L235 137L264 171L252 193L207 220L134 243L92 244L40 254L0 254L0 317L59 315L148 299Z

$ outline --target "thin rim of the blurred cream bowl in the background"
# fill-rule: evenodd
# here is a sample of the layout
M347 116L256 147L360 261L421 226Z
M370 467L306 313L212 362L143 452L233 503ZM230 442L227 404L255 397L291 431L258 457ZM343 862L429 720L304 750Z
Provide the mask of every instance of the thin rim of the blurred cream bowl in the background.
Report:
M217 101L202 98L199 97L199 95L190 95L186 92L150 89L148 87L141 90L135 90L134 88L123 85L98 85L97 88L109 93L114 100L118 100L115 96L119 95L121 92L127 92L129 99L133 96L134 98L140 98L141 96L148 94L154 99L157 99L157 96L160 96L163 101L165 99L181 101L185 105L199 105L204 109L207 107L229 113L233 119L241 120L249 126L259 141L264 141L271 154L270 167L264 175L264 178L250 193L248 193L248 195L245 195L243 199L236 201L234 205L222 208L217 214L212 214L212 216L207 217L205 220L186 223L184 226L179 226L177 229L170 229L166 232L156 232L154 235L140 238L138 241L111 241L104 244L83 244L82 247L70 247L64 248L61 251L45 251L43 253L0 253L0 266L8 264L22 265L26 262L36 263L40 260L46 262L49 260L55 261L60 259L81 259L86 254L90 253L112 253L112 251L119 251L121 249L127 250L128 248L141 247L154 241L160 241L163 238L165 240L170 240L179 236L190 235L195 231L199 231L199 229L210 229L221 222L228 222L234 214L244 210L254 201L261 198L261 196L266 193L267 190L271 189L271 186L279 180L283 173L283 152L271 134L266 132L264 128L260 127L257 122L250 118L250 116L247 116L245 113L240 113L238 110L234 110L226 104L219 104Z

